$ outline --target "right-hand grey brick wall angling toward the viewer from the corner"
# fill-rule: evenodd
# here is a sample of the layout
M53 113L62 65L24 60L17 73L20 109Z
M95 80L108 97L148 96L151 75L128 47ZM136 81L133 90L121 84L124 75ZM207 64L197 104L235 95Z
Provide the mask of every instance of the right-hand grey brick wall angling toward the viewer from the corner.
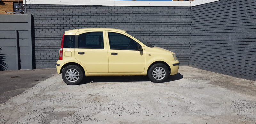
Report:
M191 9L189 65L256 80L255 0L220 0Z

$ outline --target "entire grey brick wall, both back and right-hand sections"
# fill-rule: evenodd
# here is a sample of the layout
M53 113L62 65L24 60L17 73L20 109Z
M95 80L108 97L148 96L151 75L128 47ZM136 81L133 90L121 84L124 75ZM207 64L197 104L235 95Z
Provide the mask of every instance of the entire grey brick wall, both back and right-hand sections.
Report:
M220 0L191 7L30 5L36 68L55 68L62 34L76 28L118 28L177 54L181 65L256 80L256 0ZM190 16L191 12L191 16Z

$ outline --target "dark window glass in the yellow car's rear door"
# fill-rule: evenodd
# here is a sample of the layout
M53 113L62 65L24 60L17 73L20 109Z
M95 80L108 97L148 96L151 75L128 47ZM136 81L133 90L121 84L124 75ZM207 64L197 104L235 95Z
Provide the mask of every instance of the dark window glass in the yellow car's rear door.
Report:
M78 48L104 49L103 32L80 34L78 36Z

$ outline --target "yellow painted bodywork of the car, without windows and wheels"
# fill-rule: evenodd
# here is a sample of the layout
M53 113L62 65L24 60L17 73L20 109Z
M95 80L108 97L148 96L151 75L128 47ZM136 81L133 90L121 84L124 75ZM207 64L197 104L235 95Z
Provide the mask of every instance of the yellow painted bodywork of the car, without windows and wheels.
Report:
M88 32L103 32L103 49L63 48L63 60L56 62L57 72L61 73L65 64L74 62L83 67L85 76L131 76L147 75L148 68L154 62L168 64L170 75L178 73L179 61L174 60L173 52L160 47L148 47L140 40L125 33L126 31L111 28L86 28L66 31L65 35L79 35ZM108 32L128 36L142 46L143 51L110 49ZM84 55L78 54L84 52ZM117 53L117 55L111 55ZM173 65L174 64L174 65Z

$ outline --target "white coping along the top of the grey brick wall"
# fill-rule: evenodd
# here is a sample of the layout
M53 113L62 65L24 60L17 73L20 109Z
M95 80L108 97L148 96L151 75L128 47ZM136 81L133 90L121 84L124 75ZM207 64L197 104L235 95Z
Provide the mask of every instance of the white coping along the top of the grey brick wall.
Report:
M197 6L219 0L195 1L124 1L124 0L24 0L25 4L102 5L102 6Z

